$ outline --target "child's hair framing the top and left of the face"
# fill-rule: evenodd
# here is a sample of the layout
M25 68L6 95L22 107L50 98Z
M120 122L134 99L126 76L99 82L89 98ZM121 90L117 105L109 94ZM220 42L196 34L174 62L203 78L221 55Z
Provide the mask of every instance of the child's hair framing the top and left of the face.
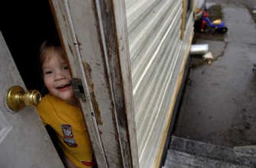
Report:
M54 49L54 50L57 50L58 52L61 53L61 55L65 55L64 52L63 52L63 49L61 48L61 45L60 45L60 41L58 41L57 39L48 39L48 40L45 40L42 45L40 46L40 50L39 50L39 54L38 54L38 63L39 63L39 71L40 71L40 80L42 83L41 84L41 94L44 96L45 94L47 94L49 91L47 90L47 88L45 87L44 85L44 73L42 71L42 66L43 66L43 63L44 63L44 60L45 60L45 54L48 50L51 50L51 49Z

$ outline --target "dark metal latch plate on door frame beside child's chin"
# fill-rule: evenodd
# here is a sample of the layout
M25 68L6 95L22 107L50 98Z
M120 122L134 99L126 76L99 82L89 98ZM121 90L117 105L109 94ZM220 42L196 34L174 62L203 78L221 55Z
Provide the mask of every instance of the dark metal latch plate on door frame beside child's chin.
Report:
M84 94L84 87L83 87L83 83L82 80L79 78L72 78L72 88L74 90L74 94L75 97L77 99L81 99L81 101L85 102L86 101L86 97Z

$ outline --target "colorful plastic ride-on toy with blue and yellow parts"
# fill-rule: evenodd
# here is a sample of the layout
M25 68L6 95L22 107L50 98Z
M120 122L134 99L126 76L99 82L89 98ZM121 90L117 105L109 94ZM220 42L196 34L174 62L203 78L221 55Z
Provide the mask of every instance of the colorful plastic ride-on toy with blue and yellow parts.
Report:
M211 29L212 31L218 32L227 32L228 28L226 27L225 23L221 21L221 19L214 20L211 22L210 18L208 17L209 14L207 11L203 11L202 13L202 24L201 24L201 32L205 32L207 28Z

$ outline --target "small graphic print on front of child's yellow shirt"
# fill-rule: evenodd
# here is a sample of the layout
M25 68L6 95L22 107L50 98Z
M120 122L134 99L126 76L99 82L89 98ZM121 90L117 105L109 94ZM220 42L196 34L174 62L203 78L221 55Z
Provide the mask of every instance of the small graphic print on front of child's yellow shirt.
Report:
M63 132L63 140L68 146L76 147L77 143L74 139L73 133L72 133L72 127L69 124L62 124L61 130Z

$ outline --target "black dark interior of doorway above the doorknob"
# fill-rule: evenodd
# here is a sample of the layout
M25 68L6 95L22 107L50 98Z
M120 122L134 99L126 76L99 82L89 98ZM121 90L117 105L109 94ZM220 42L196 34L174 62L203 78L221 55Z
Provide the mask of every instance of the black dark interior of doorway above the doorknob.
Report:
M0 31L28 89L40 90L38 50L45 39L58 36L49 1L4 1Z

